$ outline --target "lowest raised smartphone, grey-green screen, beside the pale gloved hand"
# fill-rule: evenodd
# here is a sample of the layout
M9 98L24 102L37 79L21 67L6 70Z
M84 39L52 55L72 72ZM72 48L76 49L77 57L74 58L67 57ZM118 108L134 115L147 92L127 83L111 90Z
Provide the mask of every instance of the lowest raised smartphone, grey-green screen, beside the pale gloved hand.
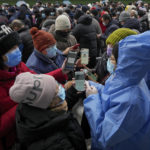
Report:
M85 75L84 72L75 72L75 88L77 91L85 91Z

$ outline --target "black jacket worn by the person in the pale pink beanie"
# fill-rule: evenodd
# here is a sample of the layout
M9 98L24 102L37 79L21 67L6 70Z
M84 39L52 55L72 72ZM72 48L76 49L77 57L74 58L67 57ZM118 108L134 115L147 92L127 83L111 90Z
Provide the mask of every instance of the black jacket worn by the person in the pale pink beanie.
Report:
M86 150L82 130L72 114L19 104L17 150Z

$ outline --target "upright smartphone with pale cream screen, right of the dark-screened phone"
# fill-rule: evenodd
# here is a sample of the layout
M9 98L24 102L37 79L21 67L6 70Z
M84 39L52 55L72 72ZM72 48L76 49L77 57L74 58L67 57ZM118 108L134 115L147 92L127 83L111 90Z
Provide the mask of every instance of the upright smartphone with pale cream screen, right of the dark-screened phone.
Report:
M89 63L89 49L82 48L81 49L81 64L87 65Z

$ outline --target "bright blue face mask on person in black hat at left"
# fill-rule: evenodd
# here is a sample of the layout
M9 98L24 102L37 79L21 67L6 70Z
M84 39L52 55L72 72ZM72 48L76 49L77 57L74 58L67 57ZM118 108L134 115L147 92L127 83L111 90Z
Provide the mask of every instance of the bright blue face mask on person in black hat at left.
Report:
M22 54L19 48L16 48L12 52L7 53L5 56L7 57L7 62L5 62L5 65L8 67L15 67L21 62Z

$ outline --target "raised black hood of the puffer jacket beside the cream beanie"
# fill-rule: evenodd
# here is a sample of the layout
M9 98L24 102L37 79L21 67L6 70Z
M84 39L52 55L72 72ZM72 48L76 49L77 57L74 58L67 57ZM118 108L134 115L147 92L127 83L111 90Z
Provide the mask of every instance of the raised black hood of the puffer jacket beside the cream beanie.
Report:
M92 16L90 15L83 15L79 18L78 23L84 25L90 25L92 23Z

